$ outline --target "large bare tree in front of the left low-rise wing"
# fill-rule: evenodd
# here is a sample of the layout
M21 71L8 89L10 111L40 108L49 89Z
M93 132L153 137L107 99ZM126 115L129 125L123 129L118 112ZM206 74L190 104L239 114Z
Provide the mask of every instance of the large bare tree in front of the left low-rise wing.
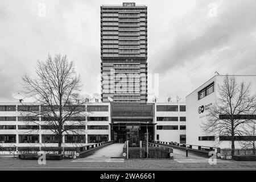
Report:
M68 61L67 56L59 54L52 59L48 55L46 61L38 61L35 77L24 73L22 80L24 89L33 99L32 105L40 105L39 109L23 106L20 113L26 117L26 122L51 130L57 135L59 147L64 133L79 134L85 129L85 99L79 94L80 75L76 75L73 61ZM35 119L39 117L41 122Z

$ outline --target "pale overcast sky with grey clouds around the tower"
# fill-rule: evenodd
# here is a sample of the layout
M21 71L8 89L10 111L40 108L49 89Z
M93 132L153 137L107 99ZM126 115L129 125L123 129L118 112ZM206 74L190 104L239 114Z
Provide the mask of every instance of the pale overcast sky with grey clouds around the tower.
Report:
M66 54L81 75L82 92L98 92L100 6L122 2L0 0L0 102L15 101L22 73L33 75L36 60L48 53ZM159 73L160 102L184 100L214 71L255 75L255 0L124 2L148 6L148 73ZM40 3L46 16L39 16Z

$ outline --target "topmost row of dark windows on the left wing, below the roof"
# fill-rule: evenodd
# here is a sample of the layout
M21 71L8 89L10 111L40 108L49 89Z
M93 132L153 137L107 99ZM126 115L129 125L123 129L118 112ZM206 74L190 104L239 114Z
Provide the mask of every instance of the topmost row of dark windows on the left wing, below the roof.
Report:
M59 106L41 106L42 111L59 110ZM85 106L65 106L65 111L85 111ZM15 105L0 105L0 111L16 111ZM39 106L18 105L18 111L39 111ZM88 105L87 111L109 111L109 106L105 105Z

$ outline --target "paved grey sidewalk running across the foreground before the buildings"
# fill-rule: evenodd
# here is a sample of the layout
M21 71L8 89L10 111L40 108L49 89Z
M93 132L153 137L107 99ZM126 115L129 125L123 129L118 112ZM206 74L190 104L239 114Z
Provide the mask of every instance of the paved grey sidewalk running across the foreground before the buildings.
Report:
M37 160L0 158L0 170L15 169L256 169L256 161L238 162L217 160L217 164L207 162L177 162L170 159L129 159L124 162L72 162L74 159L47 160L46 165L39 165ZM185 160L185 159L183 159Z

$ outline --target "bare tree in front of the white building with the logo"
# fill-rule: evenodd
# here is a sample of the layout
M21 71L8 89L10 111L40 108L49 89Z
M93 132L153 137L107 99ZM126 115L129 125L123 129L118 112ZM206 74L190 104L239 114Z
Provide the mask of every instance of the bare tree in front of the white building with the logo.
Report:
M255 113L256 96L251 95L250 85L243 81L238 84L235 77L226 75L218 85L216 102L208 109L207 121L201 125L207 134L230 138L232 156L236 136L245 134L243 129L251 123L249 116Z

